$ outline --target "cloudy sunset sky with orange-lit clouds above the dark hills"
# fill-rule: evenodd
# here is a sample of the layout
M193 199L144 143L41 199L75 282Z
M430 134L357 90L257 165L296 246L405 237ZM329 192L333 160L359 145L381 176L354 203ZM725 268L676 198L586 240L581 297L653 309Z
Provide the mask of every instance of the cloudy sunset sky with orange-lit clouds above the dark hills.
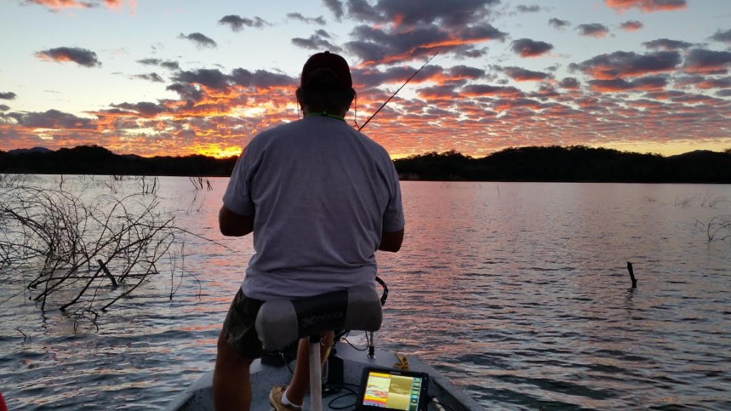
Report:
M298 118L313 53L352 67L394 158L731 148L730 0L4 0L0 150L227 157Z

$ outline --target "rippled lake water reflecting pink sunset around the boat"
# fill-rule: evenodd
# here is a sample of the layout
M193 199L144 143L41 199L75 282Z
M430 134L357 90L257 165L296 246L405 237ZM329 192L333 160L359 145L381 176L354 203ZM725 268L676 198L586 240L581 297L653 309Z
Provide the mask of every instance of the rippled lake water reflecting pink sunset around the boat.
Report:
M105 178L84 189L104 192ZM160 410L213 368L252 252L251 238L217 232L226 183L160 178L162 203L185 210L176 225L228 247L189 238L195 278L172 301L160 274L97 330L0 285L11 410ZM377 256L390 289L377 344L419 355L490 410L731 410L731 239L709 242L704 227L731 214L731 186L401 186L404 246Z

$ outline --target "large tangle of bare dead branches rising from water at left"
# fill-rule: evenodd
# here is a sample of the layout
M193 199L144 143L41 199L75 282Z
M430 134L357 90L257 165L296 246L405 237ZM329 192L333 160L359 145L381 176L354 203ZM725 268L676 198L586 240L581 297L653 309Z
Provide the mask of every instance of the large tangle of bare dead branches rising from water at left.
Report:
M159 266L171 282L182 278L176 261L189 232L146 191L83 200L62 189L0 190L0 285L23 282L41 309L53 301L96 316L159 274Z

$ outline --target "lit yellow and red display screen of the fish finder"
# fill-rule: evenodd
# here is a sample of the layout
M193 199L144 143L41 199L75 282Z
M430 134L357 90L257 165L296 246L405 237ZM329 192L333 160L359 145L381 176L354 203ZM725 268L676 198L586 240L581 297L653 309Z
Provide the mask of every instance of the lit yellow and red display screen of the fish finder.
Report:
M385 410L417 411L424 381L420 377L368 373L363 405Z

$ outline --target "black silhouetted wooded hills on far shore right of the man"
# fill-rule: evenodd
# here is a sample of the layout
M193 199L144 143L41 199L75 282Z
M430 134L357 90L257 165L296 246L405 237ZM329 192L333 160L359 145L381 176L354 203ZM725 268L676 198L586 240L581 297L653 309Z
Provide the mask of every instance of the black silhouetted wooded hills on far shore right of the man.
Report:
M395 160L402 179L731 184L731 151L679 156L586 146L506 148L473 159L456 151Z

